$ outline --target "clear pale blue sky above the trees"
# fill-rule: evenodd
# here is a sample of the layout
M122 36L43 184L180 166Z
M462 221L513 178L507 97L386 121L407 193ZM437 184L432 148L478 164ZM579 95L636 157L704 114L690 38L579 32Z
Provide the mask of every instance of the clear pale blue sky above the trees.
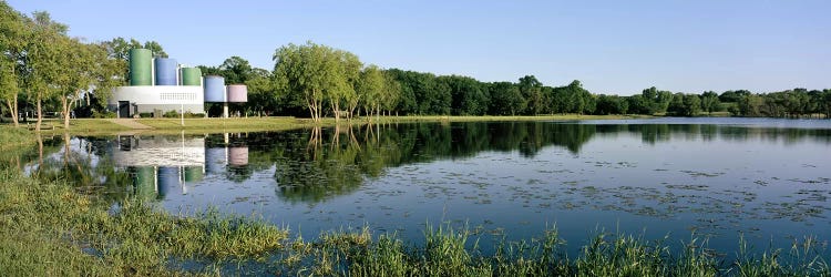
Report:
M158 41L179 63L311 40L365 63L593 93L831 89L831 1L8 0L89 41Z

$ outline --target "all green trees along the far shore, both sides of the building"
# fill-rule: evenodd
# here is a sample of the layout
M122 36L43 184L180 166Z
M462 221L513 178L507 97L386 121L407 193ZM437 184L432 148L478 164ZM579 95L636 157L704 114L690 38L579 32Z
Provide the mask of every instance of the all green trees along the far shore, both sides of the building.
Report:
M37 115L60 111L64 127L72 114L114 116L106 110L112 88L129 80L129 50L146 48L167 57L155 41L115 38L85 42L47 12L22 14L0 1L0 99L2 112L19 122L20 109ZM461 75L435 75L363 64L358 55L306 42L279 47L274 69L258 69L239 57L204 74L248 85L249 102L234 104L247 115L311 117L379 115L540 115L659 114L696 116L722 112L736 116L807 117L831 115L831 90L793 89L770 93L747 90L680 93L649 88L639 94L596 94L575 80L551 86L534 75L516 82L482 82ZM218 106L207 106L209 114ZM0 117L1 119L1 117Z

